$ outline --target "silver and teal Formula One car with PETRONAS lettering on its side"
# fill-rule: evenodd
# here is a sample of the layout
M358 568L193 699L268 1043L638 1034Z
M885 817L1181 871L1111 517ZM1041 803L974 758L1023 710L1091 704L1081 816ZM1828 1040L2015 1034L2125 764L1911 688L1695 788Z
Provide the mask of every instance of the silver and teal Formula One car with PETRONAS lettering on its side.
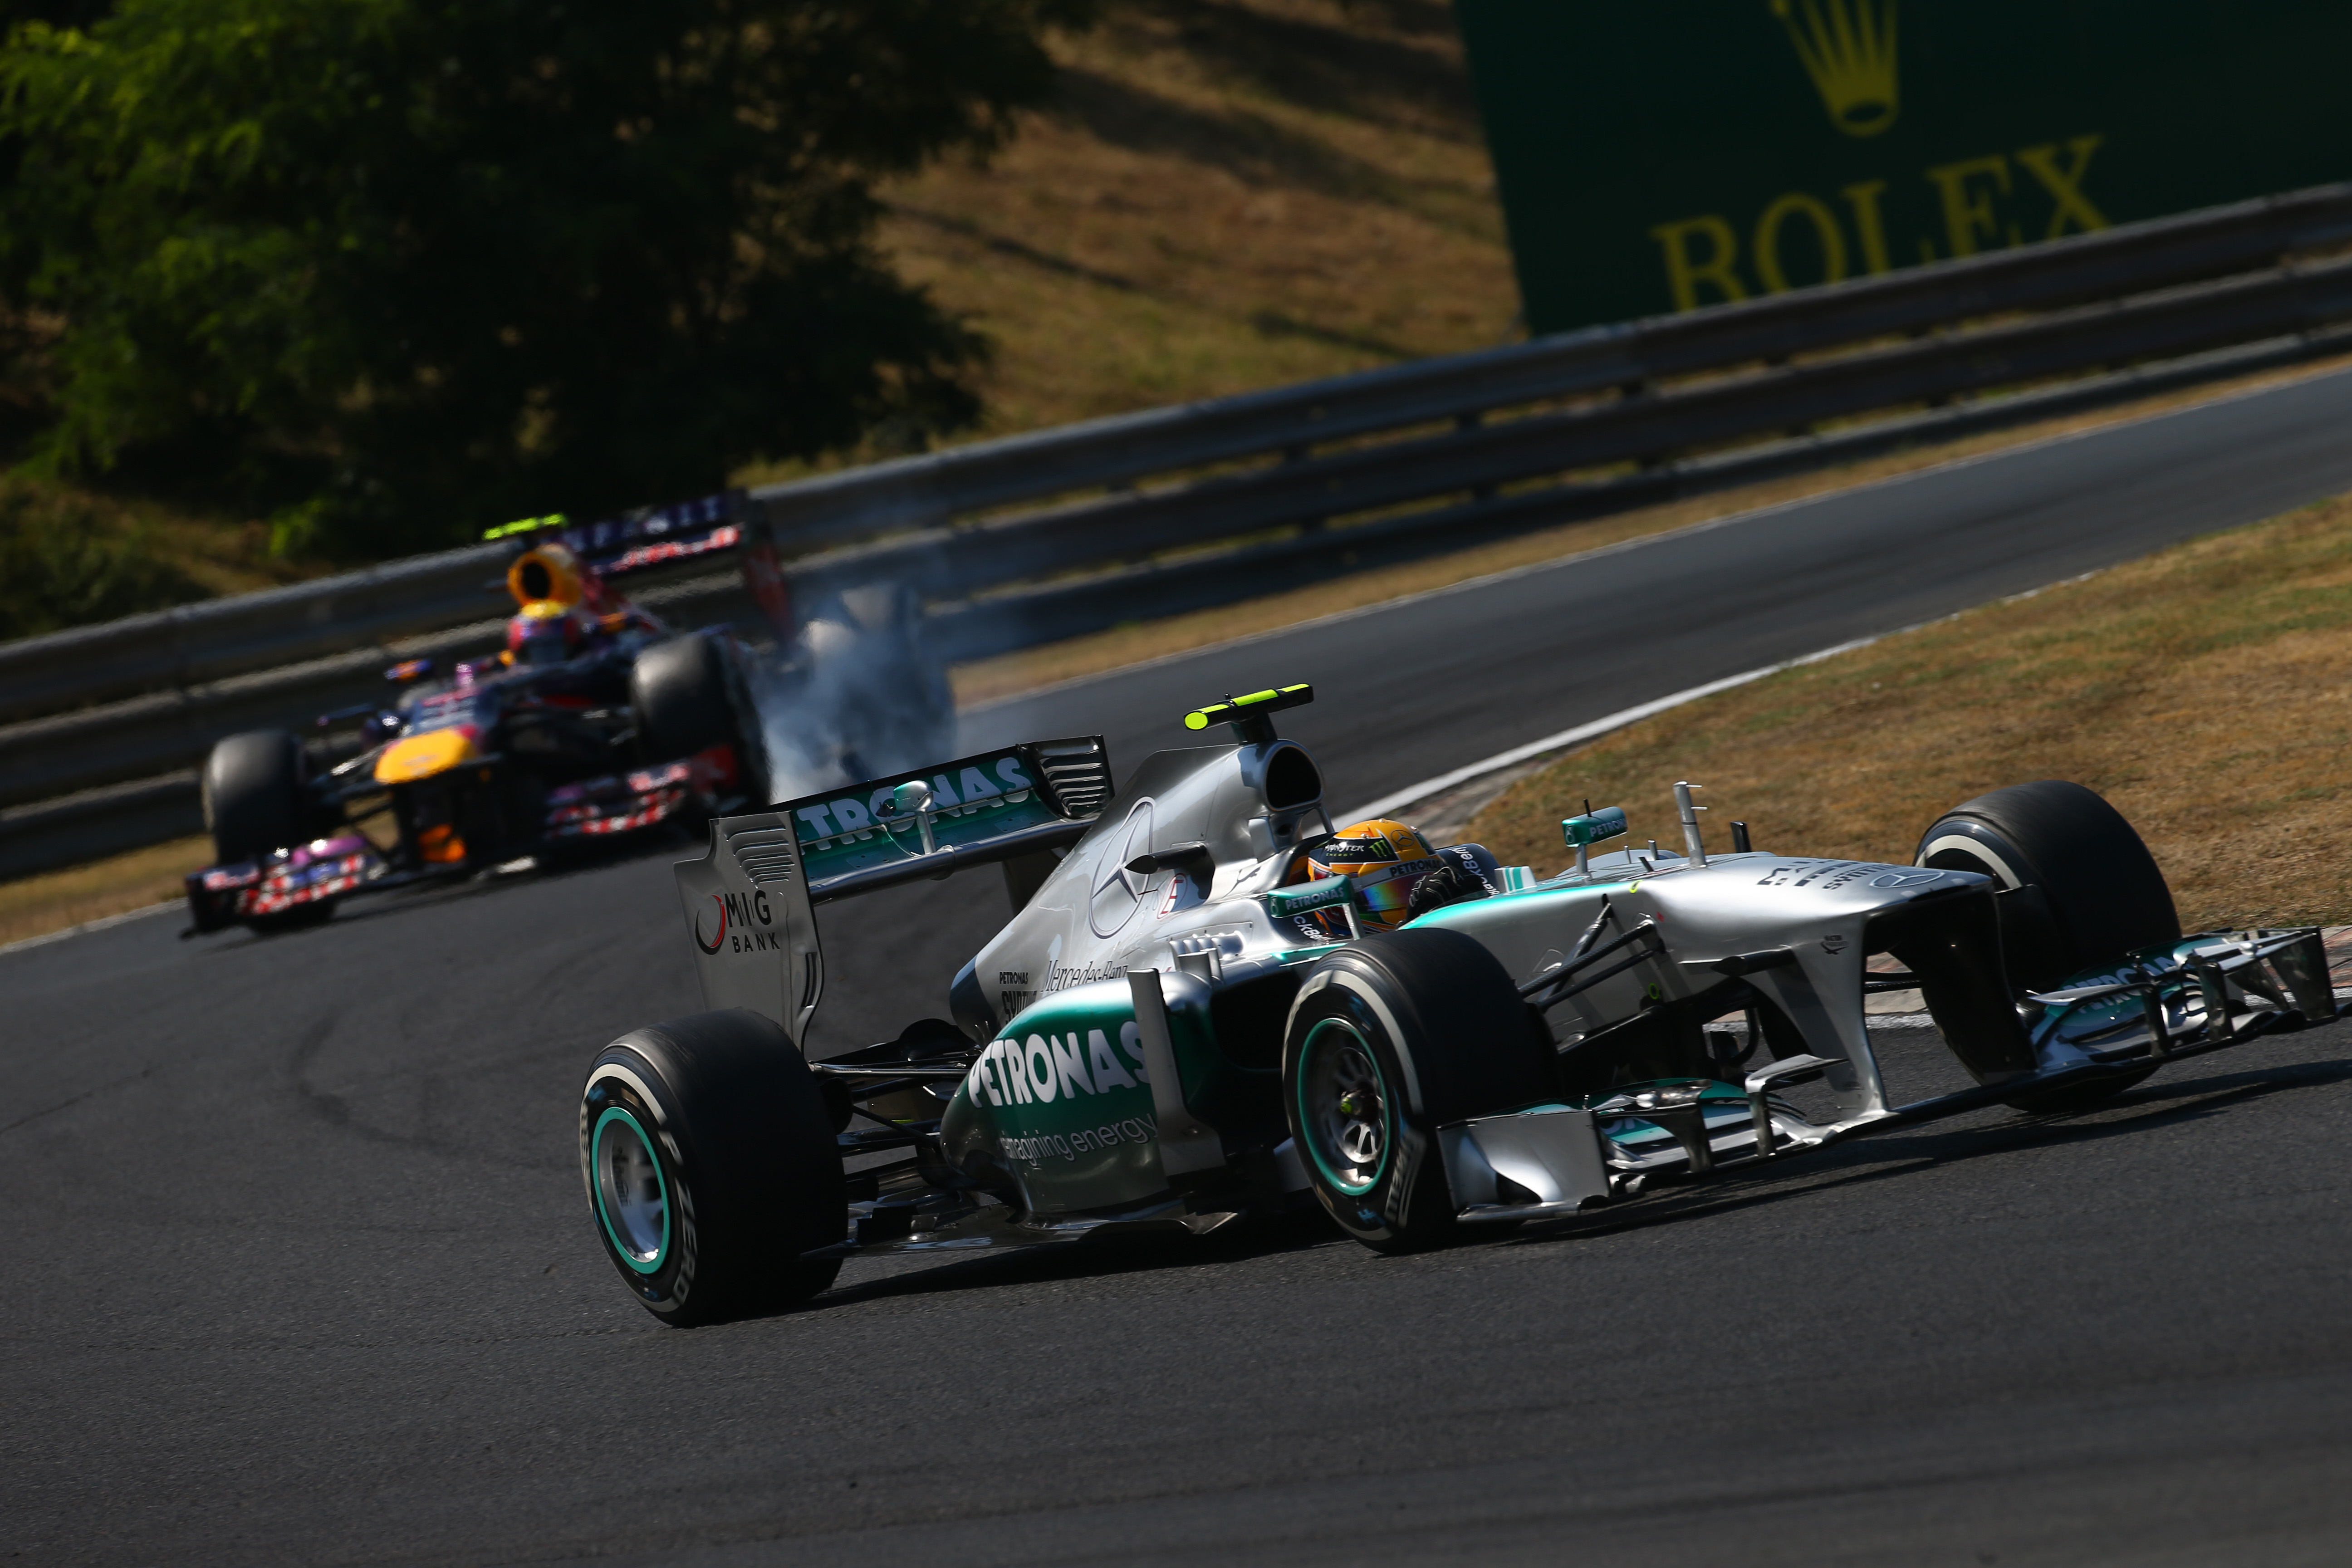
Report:
M1232 738L1120 790L1101 738L1042 741L715 820L677 867L713 1011L623 1034L581 1098L630 1291L708 1324L849 1255L1308 1201L1414 1251L1987 1105L2079 1110L2336 1016L2314 929L2185 938L2131 825L2056 780L1957 806L1912 865L1766 853L1738 823L1710 853L1675 785L1682 853L1602 851L1625 816L1588 811L1571 870L1446 849L1397 910L1317 875L1381 851L1334 849L1319 769L1275 733L1310 696L1192 712ZM955 1023L804 1060L814 907L985 863L1014 917ZM1971 1086L1898 1103L1872 992L1917 992Z

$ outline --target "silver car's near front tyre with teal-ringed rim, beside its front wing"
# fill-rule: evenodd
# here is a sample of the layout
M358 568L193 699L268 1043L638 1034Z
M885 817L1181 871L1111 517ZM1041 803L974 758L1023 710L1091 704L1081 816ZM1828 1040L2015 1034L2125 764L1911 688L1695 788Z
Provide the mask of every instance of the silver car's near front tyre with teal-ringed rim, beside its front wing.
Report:
M1503 966L1461 931L1392 931L1301 980L1282 1105L1324 1211L1364 1246L1456 1237L1437 1128L1538 1105L1557 1056Z

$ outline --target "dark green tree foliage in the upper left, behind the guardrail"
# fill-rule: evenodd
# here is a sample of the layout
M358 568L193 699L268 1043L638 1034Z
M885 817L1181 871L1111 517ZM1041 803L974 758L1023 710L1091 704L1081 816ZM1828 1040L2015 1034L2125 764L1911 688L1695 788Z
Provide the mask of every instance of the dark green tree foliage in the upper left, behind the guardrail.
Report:
M0 52L5 268L61 322L54 465L348 552L715 489L983 343L870 183L985 150L1089 0L122 0ZM214 489L219 494L219 489Z

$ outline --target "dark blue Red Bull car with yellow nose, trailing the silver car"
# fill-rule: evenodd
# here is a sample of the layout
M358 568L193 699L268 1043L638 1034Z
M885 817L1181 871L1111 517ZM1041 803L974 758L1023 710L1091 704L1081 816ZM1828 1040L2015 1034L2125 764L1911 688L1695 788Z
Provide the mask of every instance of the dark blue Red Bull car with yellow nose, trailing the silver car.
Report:
M706 529L703 548L731 543L722 534ZM358 755L275 729L212 748L216 863L188 877L193 931L322 919L362 889L769 799L753 665L729 630L673 632L560 538L515 557L506 583L499 656L447 679L430 661L395 665L393 703L320 719L360 719Z

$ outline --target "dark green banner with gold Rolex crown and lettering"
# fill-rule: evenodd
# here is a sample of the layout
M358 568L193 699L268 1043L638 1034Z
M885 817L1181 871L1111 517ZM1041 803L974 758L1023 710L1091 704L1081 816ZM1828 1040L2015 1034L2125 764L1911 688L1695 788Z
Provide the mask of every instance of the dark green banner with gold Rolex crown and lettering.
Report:
M1531 331L2352 179L2343 0L1456 0Z

